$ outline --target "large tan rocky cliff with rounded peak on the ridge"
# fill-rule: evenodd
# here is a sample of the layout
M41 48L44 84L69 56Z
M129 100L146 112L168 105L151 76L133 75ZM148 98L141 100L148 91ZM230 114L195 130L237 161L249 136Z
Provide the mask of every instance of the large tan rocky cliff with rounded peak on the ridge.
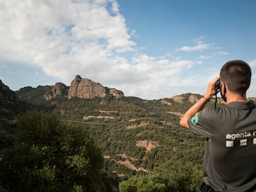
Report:
M108 89L100 83L76 75L70 83L68 98L105 98L107 94ZM115 98L124 97L124 93L116 89L109 89L109 94L113 94Z

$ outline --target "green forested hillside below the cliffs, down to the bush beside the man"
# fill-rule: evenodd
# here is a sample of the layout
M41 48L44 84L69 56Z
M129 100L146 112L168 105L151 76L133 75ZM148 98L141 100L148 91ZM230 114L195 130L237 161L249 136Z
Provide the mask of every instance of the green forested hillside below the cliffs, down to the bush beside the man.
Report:
M111 94L46 101L47 91L49 87L38 86L16 94L20 101L90 135L102 153L102 173L113 191L197 191L205 139L181 128L179 119L199 94L152 101ZM214 99L208 106L214 106Z

